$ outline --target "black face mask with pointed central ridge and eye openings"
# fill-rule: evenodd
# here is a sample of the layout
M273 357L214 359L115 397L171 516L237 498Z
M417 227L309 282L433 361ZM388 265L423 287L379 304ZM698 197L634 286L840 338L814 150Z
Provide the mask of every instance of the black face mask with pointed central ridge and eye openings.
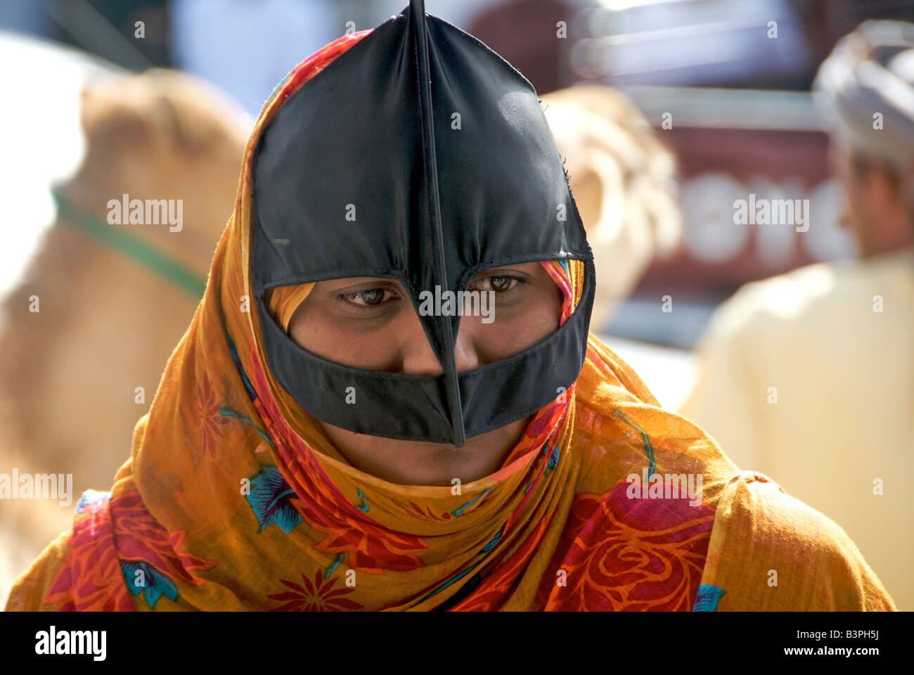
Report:
M460 447L535 413L578 378L593 257L537 93L476 38L425 15L421 2L282 103L260 137L253 189L252 276L266 356L319 420ZM421 316L420 293L456 294L486 269L554 259L585 262L574 314L533 347L457 372L460 316ZM270 288L347 277L403 284L443 375L322 359L267 309ZM349 387L356 404L345 402Z

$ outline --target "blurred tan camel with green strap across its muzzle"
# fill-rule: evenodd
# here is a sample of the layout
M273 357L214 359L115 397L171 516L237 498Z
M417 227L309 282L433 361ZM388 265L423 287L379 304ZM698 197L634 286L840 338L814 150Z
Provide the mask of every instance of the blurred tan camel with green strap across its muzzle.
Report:
M163 69L90 82L80 117L82 164L55 187L57 220L0 307L0 480L71 475L72 492L0 499L3 604L69 530L80 494L109 489L130 456L197 309L250 132L215 87ZM183 227L109 225L123 195L180 199Z

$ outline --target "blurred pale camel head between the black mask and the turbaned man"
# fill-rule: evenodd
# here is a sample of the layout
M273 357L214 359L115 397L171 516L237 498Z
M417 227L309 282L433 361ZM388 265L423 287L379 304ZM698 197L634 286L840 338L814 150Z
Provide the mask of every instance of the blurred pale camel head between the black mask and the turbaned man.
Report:
M579 85L541 98L593 249L590 330L599 334L648 264L682 239L677 161L620 91Z

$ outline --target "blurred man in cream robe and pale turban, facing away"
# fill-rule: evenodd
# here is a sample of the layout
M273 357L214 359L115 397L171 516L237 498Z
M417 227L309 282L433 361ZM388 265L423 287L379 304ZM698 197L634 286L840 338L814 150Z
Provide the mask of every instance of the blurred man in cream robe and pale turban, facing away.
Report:
M739 289L679 413L840 522L914 610L914 25L861 25L815 90L860 259Z

